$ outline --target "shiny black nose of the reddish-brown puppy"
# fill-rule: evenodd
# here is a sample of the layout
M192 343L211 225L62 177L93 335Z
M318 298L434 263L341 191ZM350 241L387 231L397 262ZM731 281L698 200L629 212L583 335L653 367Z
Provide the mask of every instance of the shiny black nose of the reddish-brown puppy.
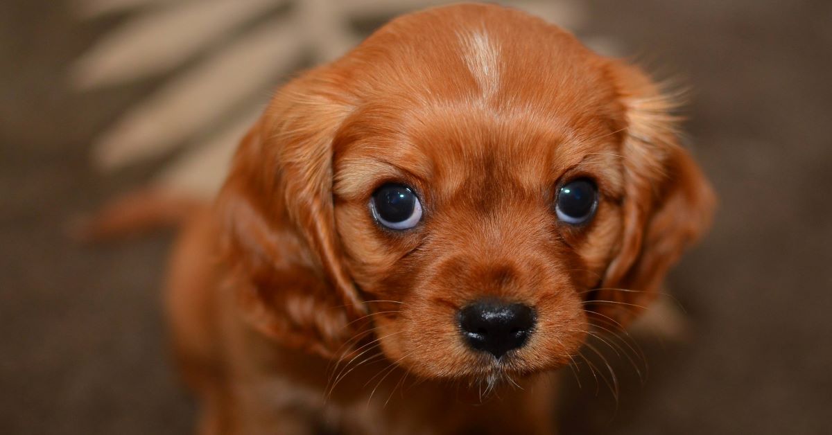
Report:
M469 346L500 358L526 344L534 314L523 304L475 302L459 311L459 327Z

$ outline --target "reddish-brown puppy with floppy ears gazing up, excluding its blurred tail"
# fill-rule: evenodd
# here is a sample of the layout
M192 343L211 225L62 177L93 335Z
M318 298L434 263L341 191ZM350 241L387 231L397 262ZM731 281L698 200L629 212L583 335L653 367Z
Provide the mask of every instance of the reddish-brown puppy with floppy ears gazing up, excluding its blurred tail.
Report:
M636 67L498 6L395 19L277 92L167 308L200 433L552 433L713 195Z

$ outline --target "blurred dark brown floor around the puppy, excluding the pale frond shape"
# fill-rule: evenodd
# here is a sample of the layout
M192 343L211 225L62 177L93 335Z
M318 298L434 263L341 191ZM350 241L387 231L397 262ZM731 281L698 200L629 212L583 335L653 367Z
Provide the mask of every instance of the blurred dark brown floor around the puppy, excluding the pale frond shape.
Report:
M694 88L694 152L716 226L669 280L686 344L641 344L617 405L582 374L564 433L815 434L832 428L832 2L592 0L616 35ZM171 235L85 248L73 216L146 180L92 171L88 143L155 82L67 91L67 62L118 18L0 2L0 433L189 433L157 288Z

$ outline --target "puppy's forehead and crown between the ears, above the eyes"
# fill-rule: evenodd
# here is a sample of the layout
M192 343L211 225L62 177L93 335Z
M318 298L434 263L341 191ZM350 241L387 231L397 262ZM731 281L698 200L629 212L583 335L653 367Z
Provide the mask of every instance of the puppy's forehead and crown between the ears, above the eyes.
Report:
M621 129L606 67L562 29L505 7L397 18L336 65L355 101L334 147L336 181L358 191L370 174L402 169L446 191L477 179L539 190L609 151L597 138Z

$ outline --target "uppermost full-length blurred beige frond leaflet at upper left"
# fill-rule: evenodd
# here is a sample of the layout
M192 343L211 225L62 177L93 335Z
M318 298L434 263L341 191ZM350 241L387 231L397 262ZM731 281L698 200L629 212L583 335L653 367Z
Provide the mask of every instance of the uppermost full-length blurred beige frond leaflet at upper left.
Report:
M72 84L82 89L106 87L168 71L275 3L181 2L143 13L84 53L72 67Z

